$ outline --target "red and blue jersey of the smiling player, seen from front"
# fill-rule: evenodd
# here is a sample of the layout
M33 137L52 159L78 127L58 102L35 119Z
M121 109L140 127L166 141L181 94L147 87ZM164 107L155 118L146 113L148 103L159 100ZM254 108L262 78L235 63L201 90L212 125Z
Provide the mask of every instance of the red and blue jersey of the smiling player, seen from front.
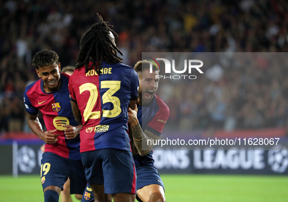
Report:
M46 93L43 89L43 81L38 80L26 87L24 92L24 104L30 115L38 115L40 110L47 131L58 129L55 134L60 136L55 144L46 144L45 152L53 152L61 157L73 160L81 160L79 135L73 140L67 140L62 125L79 125L72 112L68 82L70 76L61 73L61 86L58 91Z

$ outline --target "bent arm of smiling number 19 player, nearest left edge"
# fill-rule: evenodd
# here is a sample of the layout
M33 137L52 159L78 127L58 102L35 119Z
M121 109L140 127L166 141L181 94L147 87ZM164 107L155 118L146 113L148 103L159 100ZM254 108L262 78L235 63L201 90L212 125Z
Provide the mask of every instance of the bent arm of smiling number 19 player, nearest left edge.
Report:
M44 141L47 144L54 144L57 142L57 137L59 135L53 134L54 132L57 131L57 129L44 132L41 123L38 120L38 115L30 115L28 113L26 114L27 114L27 123L33 133L35 133L42 141Z

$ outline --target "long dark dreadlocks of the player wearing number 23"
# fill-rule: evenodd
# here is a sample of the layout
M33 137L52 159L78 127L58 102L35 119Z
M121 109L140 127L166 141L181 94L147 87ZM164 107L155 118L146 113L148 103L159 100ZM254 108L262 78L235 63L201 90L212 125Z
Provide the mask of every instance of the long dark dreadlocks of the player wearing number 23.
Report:
M97 74L101 75L102 61L108 64L122 63L123 58L117 56L117 52L120 53L121 56L123 56L123 54L114 45L109 36L110 32L112 32L115 37L118 37L115 31L110 28L113 27L113 25L103 21L98 13L97 18L99 21L92 25L80 40L76 69L85 65L85 73L94 68ZM90 61L92 61L91 66L89 66Z

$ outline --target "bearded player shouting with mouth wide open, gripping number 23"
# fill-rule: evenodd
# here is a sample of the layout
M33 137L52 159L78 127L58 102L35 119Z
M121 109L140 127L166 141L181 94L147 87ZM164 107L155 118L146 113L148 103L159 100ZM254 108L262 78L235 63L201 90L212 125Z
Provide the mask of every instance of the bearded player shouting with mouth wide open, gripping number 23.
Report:
M150 73L152 65L152 73ZM137 200L139 202L165 202L164 184L154 166L153 145L147 140L158 140L169 117L168 106L155 95L159 69L150 61L138 61L134 70L139 76L138 109L129 108L133 143L139 154L134 154L137 173ZM142 127L142 128L141 128ZM144 146L144 147L142 147ZM133 149L134 151L134 149Z

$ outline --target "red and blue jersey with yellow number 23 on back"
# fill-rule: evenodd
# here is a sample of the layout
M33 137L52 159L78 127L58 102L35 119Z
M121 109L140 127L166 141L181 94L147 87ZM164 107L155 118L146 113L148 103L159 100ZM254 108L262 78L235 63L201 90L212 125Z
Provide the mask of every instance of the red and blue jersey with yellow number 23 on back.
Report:
M92 62L90 62L92 65ZM103 148L131 151L128 136L128 105L137 100L138 75L122 63L103 61L102 74L85 66L74 71L69 81L71 100L82 116L80 152Z

